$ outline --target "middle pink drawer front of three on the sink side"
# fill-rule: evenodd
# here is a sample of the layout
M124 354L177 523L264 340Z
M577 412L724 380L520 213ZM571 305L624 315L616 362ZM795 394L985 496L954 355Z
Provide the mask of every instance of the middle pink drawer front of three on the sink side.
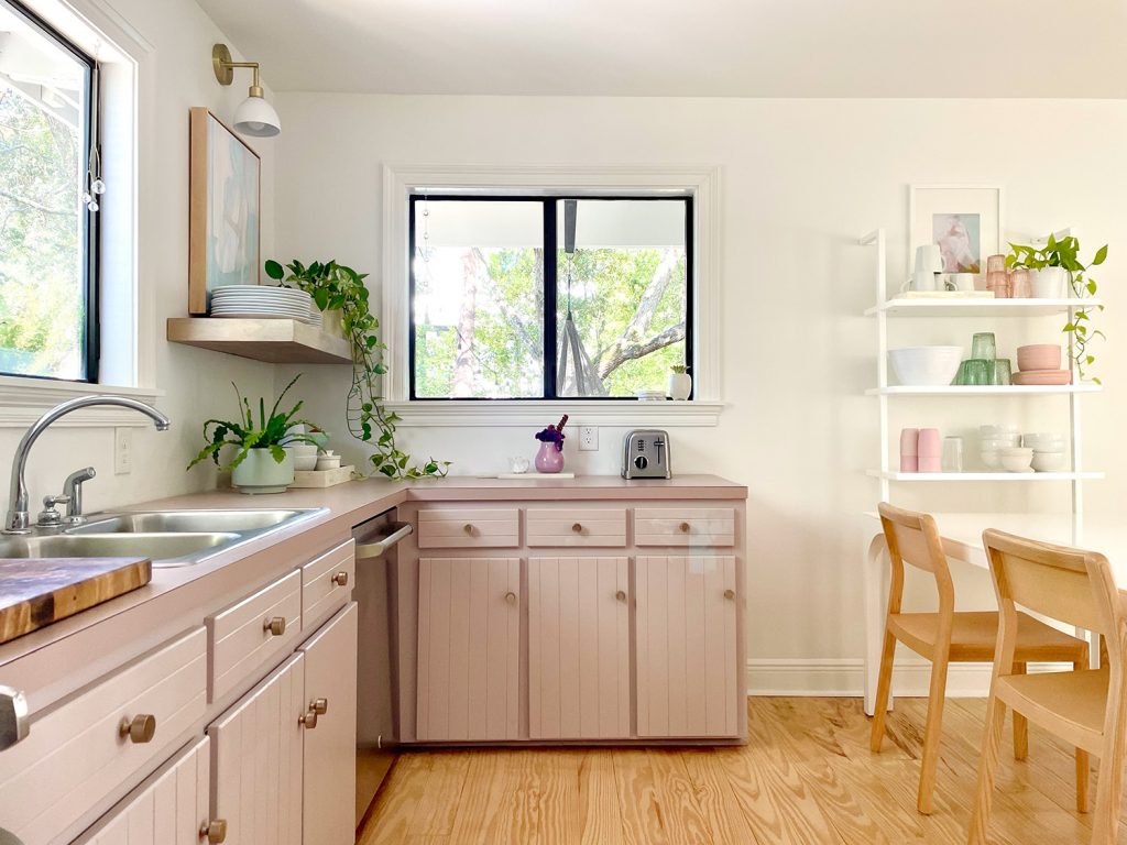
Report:
M210 701L222 697L256 668L292 650L301 633L301 575L293 571L207 617ZM282 633L268 626L278 617L285 620Z

